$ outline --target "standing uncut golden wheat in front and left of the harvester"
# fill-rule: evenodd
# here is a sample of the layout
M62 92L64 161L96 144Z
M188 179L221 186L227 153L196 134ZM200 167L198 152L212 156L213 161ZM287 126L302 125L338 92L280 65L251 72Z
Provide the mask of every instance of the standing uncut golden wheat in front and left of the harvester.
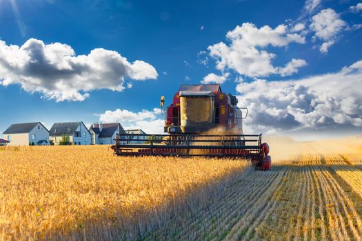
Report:
M0 149L0 240L135 239L250 170L245 160L125 158L107 148Z

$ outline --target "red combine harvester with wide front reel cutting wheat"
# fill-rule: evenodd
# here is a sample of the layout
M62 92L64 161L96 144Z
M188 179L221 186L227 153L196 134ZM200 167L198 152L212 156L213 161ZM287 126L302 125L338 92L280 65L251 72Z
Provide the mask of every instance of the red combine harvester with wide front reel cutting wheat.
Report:
M247 108L237 97L221 92L220 85L181 85L172 104L161 109L168 134L122 134L112 146L118 156L219 156L247 158L270 169L269 146L261 134L243 134Z

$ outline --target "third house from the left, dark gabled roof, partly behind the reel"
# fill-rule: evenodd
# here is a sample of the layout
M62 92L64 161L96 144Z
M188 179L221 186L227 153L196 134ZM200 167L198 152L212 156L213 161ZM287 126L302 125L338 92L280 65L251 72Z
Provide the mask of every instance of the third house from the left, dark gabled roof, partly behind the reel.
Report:
M91 142L94 145L115 144L117 134L125 134L120 123L94 123L89 129Z

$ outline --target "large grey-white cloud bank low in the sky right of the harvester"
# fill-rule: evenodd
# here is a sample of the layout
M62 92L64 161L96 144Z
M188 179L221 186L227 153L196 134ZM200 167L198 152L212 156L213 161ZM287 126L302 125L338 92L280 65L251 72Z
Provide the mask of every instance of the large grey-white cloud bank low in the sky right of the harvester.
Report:
M239 83L249 108L246 132L303 132L362 127L362 61L340 72L290 81Z

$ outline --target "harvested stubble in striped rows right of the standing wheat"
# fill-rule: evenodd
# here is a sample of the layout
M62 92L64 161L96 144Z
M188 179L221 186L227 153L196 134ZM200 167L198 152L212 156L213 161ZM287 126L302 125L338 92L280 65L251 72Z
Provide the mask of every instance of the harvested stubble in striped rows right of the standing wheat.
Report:
M362 156L307 148L272 171L244 176L147 239L362 240Z

